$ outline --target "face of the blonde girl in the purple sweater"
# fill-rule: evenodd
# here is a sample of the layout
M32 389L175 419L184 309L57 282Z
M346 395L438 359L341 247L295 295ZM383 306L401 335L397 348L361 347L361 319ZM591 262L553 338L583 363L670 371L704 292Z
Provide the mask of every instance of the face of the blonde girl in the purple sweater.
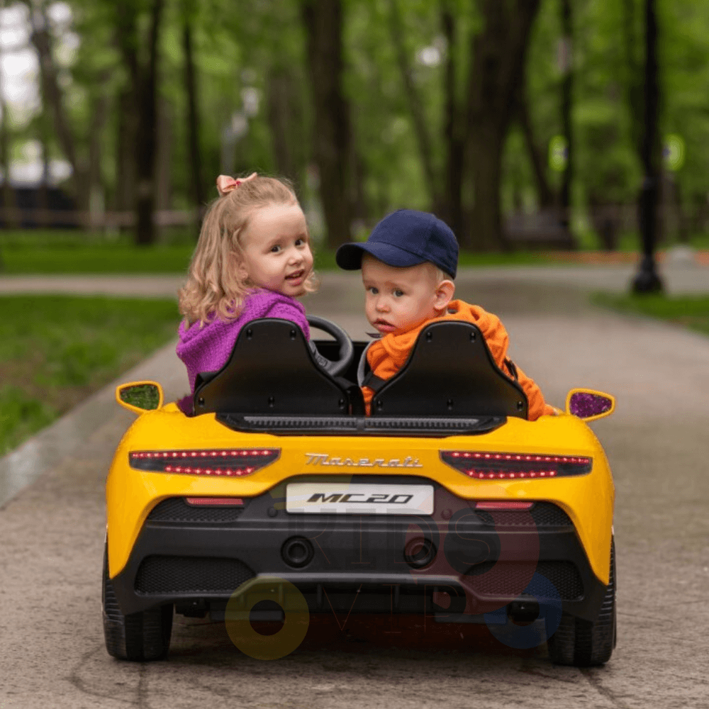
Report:
M240 276L255 286L296 298L313 269L308 226L297 204L274 204L252 214L242 237Z

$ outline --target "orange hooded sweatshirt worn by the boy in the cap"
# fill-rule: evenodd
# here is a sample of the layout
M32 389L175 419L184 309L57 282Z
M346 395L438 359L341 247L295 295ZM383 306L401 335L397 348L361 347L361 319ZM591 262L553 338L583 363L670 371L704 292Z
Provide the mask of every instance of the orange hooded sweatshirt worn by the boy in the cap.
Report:
M484 311L480 306L473 306L464 301L450 301L447 313L444 316L425 320L418 327L408 330L406 333L401 333L401 335L389 333L389 335L384 335L381 340L372 342L369 350L367 350L367 362L369 362L369 367L372 367L374 376L378 376L380 379L389 379L389 377L396 374L408 359L411 348L421 330L429 323L437 323L440 320L464 320L466 323L477 325L497 366L503 372L510 372L510 368L506 363L510 338L500 318ZM535 421L543 414L554 415L554 408L545 403L542 391L534 380L530 379L519 367L516 369L518 384L527 394L527 401L529 402L527 416L529 420ZM367 415L369 415L374 391L369 389L369 386L363 386L362 394L367 407Z

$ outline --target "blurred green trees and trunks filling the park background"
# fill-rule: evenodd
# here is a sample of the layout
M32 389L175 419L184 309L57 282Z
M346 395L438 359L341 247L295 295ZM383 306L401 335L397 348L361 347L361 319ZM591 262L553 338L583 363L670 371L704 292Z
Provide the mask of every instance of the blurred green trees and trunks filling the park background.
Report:
M616 247L634 223L642 0L18 0L2 16L18 8L39 99L0 97L0 162L34 141L71 164L77 206L136 213L140 242L156 208L196 220L217 174L253 170L289 177L330 245L399 207L476 250L510 246L510 213L563 216L565 195L576 238ZM709 216L709 5L657 10L660 132L686 146L666 230L686 236ZM550 166L558 136L571 160Z

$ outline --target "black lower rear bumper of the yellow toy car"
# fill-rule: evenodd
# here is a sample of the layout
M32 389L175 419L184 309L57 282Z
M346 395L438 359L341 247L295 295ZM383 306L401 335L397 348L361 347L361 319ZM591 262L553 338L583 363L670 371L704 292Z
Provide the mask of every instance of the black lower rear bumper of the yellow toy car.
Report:
M435 494L433 515L291 514L271 493L242 507L168 498L113 588L126 615L162 603L223 608L237 588L277 577L311 613L479 616L535 596L541 575L567 613L596 618L605 586L561 508L486 512Z

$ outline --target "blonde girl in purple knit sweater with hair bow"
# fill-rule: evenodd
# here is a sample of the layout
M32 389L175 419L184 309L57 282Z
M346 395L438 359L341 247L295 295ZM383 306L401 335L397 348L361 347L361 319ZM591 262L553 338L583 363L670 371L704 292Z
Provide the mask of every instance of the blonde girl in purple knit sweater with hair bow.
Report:
M226 364L239 331L258 318L284 318L310 330L295 300L315 290L308 226L291 187L279 179L217 178L219 197L209 207L178 291L177 356L187 367L191 395L179 407L191 415L199 372Z

